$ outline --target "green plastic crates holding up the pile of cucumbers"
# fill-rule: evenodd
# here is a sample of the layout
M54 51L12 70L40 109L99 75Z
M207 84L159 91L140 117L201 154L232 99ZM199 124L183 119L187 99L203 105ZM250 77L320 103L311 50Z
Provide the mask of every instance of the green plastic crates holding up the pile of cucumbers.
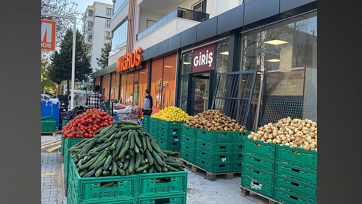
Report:
M186 171L82 178L72 161L69 174L69 204L186 204ZM108 182L114 186L100 188Z

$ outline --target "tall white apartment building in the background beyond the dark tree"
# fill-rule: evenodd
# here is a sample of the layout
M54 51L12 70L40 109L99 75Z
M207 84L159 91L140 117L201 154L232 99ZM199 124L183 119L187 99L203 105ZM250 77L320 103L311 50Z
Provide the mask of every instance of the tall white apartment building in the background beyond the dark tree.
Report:
M97 58L100 58L101 49L105 44L111 41L110 21L113 12L113 5L94 2L84 13L83 33L93 72L101 69L97 64Z

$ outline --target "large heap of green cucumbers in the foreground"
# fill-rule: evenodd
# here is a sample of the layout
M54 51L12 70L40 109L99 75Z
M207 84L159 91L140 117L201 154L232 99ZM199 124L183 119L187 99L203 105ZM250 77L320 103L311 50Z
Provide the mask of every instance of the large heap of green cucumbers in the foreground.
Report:
M67 150L81 177L184 171L141 125L116 121Z

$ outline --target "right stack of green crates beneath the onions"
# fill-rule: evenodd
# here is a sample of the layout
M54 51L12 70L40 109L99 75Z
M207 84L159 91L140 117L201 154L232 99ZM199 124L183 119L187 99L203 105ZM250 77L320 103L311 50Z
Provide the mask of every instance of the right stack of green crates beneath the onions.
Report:
M276 145L274 199L317 203L317 153Z

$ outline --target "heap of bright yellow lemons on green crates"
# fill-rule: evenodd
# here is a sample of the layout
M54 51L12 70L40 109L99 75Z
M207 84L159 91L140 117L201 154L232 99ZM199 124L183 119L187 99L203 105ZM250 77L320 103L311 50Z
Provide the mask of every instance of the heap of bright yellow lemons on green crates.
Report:
M151 116L151 118L157 118L165 121L188 121L192 117L178 107L169 106L159 112L156 112Z

